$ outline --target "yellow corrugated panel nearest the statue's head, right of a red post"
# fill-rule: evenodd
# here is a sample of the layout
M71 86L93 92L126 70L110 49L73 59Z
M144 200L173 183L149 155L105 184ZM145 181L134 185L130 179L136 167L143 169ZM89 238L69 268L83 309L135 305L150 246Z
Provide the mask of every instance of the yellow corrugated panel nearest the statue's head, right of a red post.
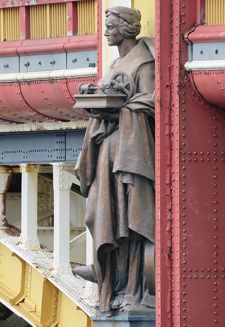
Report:
M97 33L97 0L78 2L78 34Z

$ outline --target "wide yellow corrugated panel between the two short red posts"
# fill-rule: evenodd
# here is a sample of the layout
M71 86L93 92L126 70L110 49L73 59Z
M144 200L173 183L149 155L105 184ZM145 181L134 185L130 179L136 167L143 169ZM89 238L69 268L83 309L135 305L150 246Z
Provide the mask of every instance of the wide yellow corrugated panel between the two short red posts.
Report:
M66 3L31 6L32 39L66 35Z

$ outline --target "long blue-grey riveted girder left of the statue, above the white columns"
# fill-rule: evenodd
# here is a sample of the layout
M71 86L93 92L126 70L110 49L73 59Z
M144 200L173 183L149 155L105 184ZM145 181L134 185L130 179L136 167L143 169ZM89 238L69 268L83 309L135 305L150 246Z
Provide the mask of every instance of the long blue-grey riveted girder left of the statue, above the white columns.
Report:
M85 130L15 132L0 134L0 164L76 162Z

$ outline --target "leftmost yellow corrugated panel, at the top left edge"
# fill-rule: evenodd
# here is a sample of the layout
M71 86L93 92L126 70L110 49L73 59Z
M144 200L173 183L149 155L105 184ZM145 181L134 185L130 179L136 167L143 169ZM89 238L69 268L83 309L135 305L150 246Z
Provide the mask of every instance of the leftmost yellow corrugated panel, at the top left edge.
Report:
M19 7L0 10L0 41L20 39Z

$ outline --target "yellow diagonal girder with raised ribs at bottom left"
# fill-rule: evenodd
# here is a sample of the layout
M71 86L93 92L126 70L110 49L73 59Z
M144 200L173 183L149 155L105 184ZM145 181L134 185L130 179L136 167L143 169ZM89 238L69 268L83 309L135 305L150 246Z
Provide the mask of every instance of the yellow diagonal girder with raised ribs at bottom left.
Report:
M70 298L0 243L0 301L37 327L91 327L90 317Z

